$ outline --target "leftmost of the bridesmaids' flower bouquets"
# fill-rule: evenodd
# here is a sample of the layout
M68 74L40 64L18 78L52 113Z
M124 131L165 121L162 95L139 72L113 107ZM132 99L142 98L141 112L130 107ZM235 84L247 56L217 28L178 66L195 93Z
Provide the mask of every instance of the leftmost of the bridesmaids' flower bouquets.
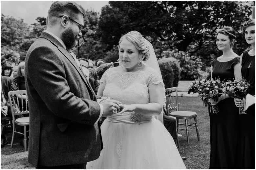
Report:
M188 94L190 94L191 92L193 93L198 93L199 95L202 94L202 91L205 87L205 83L207 82L206 78L205 77L202 77L202 78L198 78L191 82L190 85L188 86ZM206 107L206 106L209 106L210 103L208 101L207 98L202 98L202 101L203 101L203 106Z

